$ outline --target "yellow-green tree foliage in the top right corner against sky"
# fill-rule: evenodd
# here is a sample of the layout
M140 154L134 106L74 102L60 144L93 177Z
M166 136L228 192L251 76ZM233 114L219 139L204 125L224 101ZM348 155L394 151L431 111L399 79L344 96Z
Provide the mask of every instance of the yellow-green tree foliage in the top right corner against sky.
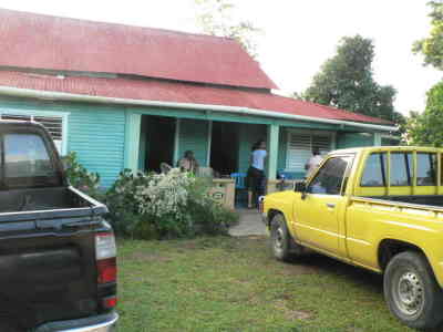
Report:
M424 55L425 65L443 70L443 1L430 1L427 4L432 8L429 14L431 32L427 38L416 41L412 51Z

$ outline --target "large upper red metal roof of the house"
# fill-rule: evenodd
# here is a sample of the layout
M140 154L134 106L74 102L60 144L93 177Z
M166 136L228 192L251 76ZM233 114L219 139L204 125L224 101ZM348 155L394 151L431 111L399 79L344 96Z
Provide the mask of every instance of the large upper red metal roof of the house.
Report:
M231 39L0 9L0 64L277 89Z

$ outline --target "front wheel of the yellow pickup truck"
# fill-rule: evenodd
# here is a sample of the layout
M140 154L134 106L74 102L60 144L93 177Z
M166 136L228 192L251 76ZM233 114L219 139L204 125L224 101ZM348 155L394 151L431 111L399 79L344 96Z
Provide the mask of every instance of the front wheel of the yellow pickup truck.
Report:
M270 238L274 257L278 260L290 261L302 251L301 246L292 240L281 214L275 215L270 221Z

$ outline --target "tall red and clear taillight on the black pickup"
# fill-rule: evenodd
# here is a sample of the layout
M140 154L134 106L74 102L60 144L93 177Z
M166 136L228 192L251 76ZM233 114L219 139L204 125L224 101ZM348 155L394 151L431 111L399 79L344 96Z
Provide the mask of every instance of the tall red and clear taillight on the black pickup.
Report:
M99 232L95 235L99 283L115 282L117 280L116 253L115 238L112 232Z

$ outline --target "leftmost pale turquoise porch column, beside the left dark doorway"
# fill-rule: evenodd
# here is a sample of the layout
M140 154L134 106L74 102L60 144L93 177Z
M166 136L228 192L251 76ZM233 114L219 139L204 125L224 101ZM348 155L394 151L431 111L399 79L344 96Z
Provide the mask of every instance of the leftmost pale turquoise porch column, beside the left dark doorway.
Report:
M132 169L135 173L138 169L142 115L126 112L125 117L124 168Z

